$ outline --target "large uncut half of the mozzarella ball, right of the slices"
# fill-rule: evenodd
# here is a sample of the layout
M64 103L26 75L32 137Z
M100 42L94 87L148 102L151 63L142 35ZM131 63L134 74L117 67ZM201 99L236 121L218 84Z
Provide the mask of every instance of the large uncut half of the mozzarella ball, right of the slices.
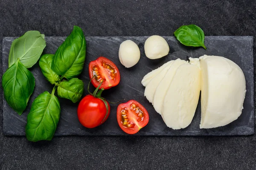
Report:
M236 120L243 109L246 92L244 73L230 59L219 56L200 57L201 125L212 128Z

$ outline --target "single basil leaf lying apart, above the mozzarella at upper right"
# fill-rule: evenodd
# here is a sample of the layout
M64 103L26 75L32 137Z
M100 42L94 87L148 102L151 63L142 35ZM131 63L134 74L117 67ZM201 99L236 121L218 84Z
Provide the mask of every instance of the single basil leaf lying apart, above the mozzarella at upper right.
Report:
M174 32L181 44L193 47L204 47L204 31L196 25L181 26Z

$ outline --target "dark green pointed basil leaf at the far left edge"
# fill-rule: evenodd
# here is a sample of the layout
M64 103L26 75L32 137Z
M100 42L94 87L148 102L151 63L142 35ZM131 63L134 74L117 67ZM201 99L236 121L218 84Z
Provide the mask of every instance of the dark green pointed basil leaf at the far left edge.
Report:
M33 74L17 59L3 74L2 85L6 102L21 115L35 88Z

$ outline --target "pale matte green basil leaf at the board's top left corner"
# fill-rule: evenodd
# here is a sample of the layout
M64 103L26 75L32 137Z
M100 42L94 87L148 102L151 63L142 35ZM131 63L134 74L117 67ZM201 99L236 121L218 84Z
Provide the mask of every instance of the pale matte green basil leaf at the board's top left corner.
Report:
M40 58L45 46L44 34L39 31L27 31L12 42L9 67L19 58L26 68L31 68Z

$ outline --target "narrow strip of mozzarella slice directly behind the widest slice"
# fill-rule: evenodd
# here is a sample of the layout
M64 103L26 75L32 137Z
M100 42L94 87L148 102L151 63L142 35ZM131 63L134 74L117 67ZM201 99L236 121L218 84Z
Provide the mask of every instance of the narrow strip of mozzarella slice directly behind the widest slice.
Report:
M185 60L176 59L172 66L167 71L166 75L163 77L162 81L157 86L157 89L154 94L153 104L154 109L157 113L161 114L163 108L163 99L166 95L166 92L172 82L172 78L174 77L177 68L182 64L189 64Z

